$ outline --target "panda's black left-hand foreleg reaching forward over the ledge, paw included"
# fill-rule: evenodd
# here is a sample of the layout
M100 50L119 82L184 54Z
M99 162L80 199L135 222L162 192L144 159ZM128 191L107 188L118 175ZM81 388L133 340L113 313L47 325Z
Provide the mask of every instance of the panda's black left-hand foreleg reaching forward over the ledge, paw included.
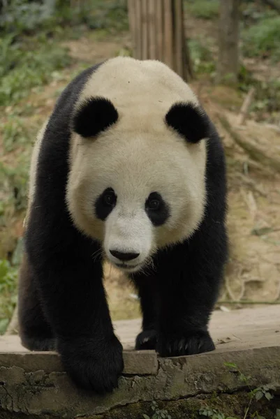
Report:
M27 251L64 369L80 388L111 392L124 363L103 288L102 260L94 257L100 249L71 226L64 228L63 219L40 235L34 228L39 222L31 218Z

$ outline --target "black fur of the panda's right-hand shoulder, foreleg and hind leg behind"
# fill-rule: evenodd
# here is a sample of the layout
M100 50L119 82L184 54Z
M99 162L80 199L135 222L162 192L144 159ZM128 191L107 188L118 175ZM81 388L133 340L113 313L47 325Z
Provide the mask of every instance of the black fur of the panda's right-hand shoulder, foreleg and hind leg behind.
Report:
M212 351L207 332L228 256L226 219L226 165L221 140L209 121L207 143L207 205L196 233L182 244L154 256L152 277L136 272L143 332L135 347L155 348L162 356ZM153 287L151 288L151 284ZM154 337L156 332L156 338Z

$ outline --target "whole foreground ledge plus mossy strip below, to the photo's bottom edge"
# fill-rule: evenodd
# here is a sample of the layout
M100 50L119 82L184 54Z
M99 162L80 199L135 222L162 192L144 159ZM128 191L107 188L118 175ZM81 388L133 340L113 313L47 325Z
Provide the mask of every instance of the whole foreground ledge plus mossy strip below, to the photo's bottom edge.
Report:
M216 351L176 358L131 351L140 319L114 322L124 346L124 374L119 388L103 397L78 391L56 353L30 352L18 336L0 337L0 417L279 419L274 318L280 305L253 311L253 318L251 309L216 311L210 323Z

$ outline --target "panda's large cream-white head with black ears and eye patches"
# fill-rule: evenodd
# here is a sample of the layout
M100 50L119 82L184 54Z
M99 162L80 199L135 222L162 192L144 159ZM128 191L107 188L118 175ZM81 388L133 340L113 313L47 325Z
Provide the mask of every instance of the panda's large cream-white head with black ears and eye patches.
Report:
M186 240L205 208L209 122L159 61L108 60L73 112L68 209L126 272Z

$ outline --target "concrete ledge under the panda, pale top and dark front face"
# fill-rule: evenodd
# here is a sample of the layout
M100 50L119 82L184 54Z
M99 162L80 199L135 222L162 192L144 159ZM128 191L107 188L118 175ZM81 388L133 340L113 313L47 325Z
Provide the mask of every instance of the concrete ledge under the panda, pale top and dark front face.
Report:
M56 353L31 353L20 346L18 337L1 337L0 418L14 418L15 413L33 415L32 419L133 418L124 412L124 416L110 415L116 408L127 409L130 405L154 399L168 402L213 393L230 395L244 390L239 374L234 368L226 367L225 362L235 363L242 374L251 376L251 388L267 383L280 388L279 309L273 307L272 311L265 307L226 313L226 316L221 312L214 314L214 321L219 324L219 336L215 337L216 351L211 353L158 358L154 351L126 350L119 388L105 396L78 391L62 371ZM240 323L238 317L239 320L240 317L248 318L250 322ZM221 328L225 323L226 329ZM117 332L125 341L126 348L138 332L135 325L139 325L139 321L125 322L124 329L124 323L117 324ZM128 333L129 328L131 332ZM131 337L128 336L130 333ZM251 339L253 333L255 339ZM235 339L230 339L232 335ZM16 348L17 351L12 351Z

